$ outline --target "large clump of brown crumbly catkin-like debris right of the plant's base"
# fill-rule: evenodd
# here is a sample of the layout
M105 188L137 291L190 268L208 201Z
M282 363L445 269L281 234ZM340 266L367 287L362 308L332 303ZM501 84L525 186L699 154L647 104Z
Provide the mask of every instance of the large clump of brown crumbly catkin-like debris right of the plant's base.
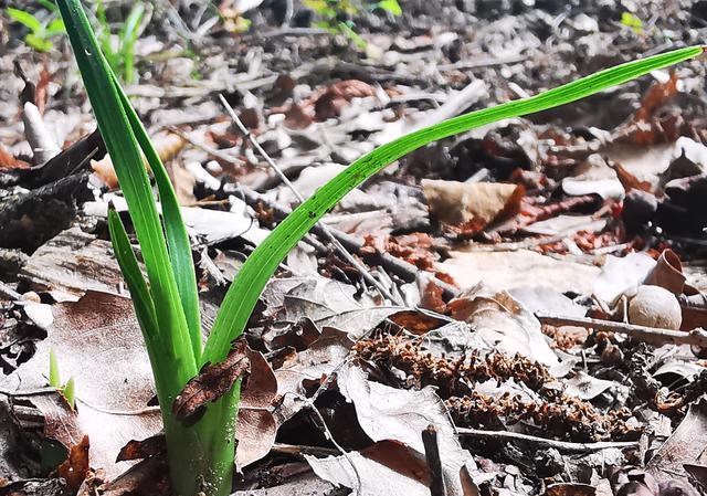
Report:
M552 435L572 441L626 439L635 435L626 423L627 409L602 413L588 401L562 392L547 367L516 355L472 351L457 358L437 357L403 336L381 335L355 346L357 356L383 371L405 374L408 387L434 386L457 425L503 429L532 422ZM394 376L394 373L391 373ZM504 393L492 397L474 384L494 379L514 380L537 393L537 399Z

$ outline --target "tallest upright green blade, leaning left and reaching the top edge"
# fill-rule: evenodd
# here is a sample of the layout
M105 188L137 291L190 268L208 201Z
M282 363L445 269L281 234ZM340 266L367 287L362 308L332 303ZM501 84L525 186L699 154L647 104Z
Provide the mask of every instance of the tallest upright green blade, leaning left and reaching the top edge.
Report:
M163 345L161 348L169 356L163 359L173 360L175 378L169 389L171 394L177 394L196 374L197 362L140 148L81 2L57 0L57 4L128 203L150 283L158 320L156 331Z

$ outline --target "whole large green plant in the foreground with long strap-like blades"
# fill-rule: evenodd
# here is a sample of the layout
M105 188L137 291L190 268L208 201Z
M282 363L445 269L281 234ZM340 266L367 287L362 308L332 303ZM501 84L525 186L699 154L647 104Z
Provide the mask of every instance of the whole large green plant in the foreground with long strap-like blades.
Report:
M235 381L229 392L209 403L205 414L190 426L181 423L172 411L175 400L200 369L208 363L221 363L230 356L233 340L242 335L261 292L279 262L348 191L431 141L499 119L567 104L703 53L700 46L695 46L620 65L531 98L446 120L361 157L305 201L257 246L231 285L202 348L191 250L168 176L102 55L80 0L57 2L141 247L147 279L139 270L119 215L110 211L110 236L152 366L171 479L176 493L181 496L191 496L199 490L215 496L229 493L240 382ZM162 207L161 220L141 154L147 157L155 176Z

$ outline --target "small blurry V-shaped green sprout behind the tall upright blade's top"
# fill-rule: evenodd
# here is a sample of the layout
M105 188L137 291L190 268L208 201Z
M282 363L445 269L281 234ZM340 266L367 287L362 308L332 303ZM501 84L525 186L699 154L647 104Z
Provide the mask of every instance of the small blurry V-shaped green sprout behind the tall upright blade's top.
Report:
M96 19L99 24L96 35L101 43L101 50L113 72L128 84L135 82L135 42L144 15L145 4L143 2L135 3L122 24L120 31L114 36L103 1L96 2Z

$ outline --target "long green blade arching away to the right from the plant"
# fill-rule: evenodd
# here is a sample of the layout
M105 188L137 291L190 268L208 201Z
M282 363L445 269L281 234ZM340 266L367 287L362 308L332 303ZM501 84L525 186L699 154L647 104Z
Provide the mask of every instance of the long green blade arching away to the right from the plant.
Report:
M436 126L420 129L359 158L292 212L243 264L217 316L204 348L202 362L217 362L225 358L231 340L243 331L261 292L287 252L346 193L389 163L429 143L497 120L564 105L701 53L701 46L690 46L629 62L537 96L472 112Z

